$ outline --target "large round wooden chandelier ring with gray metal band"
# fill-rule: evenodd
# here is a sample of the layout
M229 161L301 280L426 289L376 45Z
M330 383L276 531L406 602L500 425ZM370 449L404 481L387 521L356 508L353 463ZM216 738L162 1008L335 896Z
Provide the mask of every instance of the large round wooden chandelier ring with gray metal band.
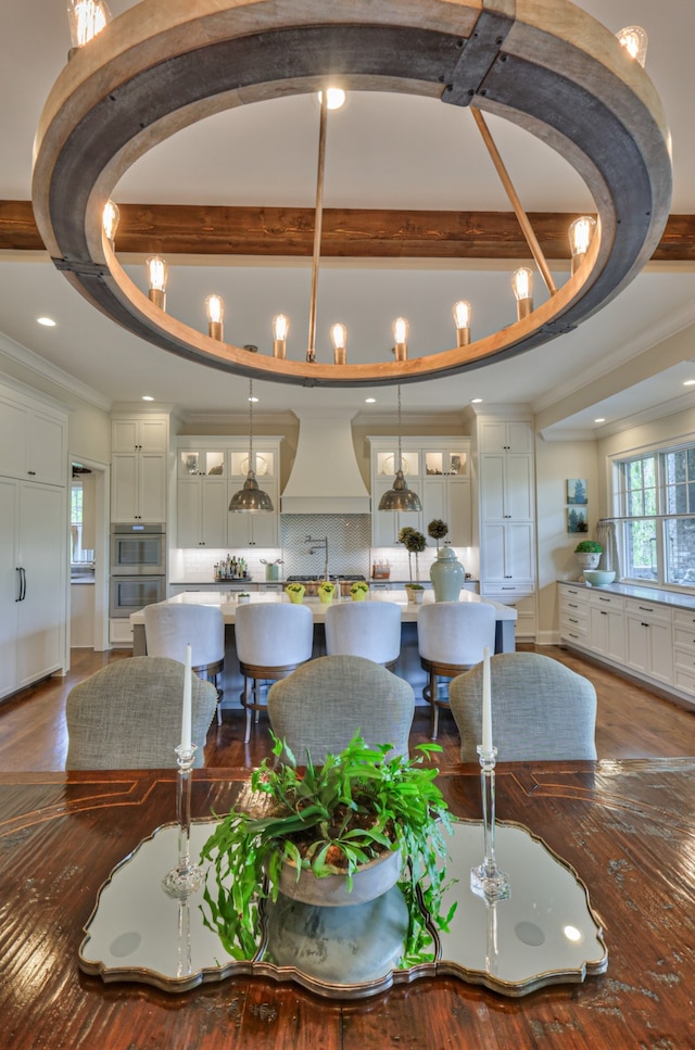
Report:
M596 205L598 233L582 266L504 330L404 362L249 354L155 307L103 236L104 204L122 175L213 113L336 79L346 90L472 104L555 148ZM143 0L74 52L56 80L36 137L33 200L55 266L136 336L255 379L358 387L435 379L571 330L650 257L671 179L670 136L652 81L608 29L567 0Z

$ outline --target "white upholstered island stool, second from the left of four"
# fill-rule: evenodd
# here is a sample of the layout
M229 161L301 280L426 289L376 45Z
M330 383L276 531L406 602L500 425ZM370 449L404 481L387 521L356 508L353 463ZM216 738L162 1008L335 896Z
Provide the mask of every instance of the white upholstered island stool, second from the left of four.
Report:
M247 711L244 744L251 739L251 712L265 708L261 683L291 674L312 657L314 617L305 605L258 602L240 605L235 617L235 644L243 674L241 706Z

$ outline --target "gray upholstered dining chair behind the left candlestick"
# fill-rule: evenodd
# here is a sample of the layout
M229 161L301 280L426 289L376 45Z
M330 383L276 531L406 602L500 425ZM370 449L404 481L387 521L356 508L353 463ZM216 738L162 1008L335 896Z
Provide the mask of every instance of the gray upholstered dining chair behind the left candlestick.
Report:
M181 743L184 673L177 660L135 656L116 660L73 686L65 719L66 769L165 769L176 766ZM215 716L217 691L192 673L194 764Z

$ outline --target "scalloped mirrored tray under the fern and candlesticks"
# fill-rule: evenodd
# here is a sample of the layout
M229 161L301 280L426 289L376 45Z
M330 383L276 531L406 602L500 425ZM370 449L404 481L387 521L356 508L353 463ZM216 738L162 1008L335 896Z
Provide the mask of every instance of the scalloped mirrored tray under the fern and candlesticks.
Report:
M212 820L193 823L192 857L214 825ZM433 962L400 970L405 904L397 886L378 901L349 908L313 908L280 896L265 913L255 957L232 959L203 924L202 888L185 902L163 891L162 877L178 848L177 826L165 824L101 887L79 965L104 981L139 981L172 992L257 974L346 999L437 974L522 996L605 972L601 924L577 872L520 824L498 822L495 833L496 858L510 880L509 899L488 903L471 891L470 869L482 860L482 825L457 821L447 839L447 873L457 881L443 912L458 901L450 932L433 941Z

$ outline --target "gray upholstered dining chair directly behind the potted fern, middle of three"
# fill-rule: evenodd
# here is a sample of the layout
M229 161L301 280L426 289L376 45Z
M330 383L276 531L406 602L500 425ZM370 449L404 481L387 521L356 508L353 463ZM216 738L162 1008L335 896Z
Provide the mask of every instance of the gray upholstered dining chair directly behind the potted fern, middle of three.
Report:
M268 691L273 732L300 764L308 750L320 766L357 730L367 744L392 744L407 756L414 713L413 687L362 656L321 656Z

